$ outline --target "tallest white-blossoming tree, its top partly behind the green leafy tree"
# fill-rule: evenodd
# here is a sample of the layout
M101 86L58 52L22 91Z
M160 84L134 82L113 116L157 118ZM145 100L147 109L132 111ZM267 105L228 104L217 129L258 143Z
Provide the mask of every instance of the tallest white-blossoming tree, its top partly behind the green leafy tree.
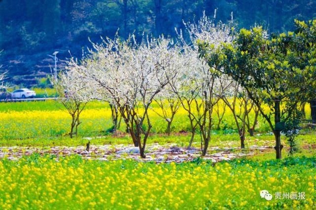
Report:
M188 68L176 73L170 79L172 91L179 97L183 108L188 112L192 128L189 147L194 139L196 128L201 133L202 155L206 155L211 140L213 126L212 111L219 100L220 92L225 90L220 82L222 75L212 70L198 57L198 41L206 40L214 46L221 42L231 42L233 37L229 26L214 24L214 21L203 14L198 23L184 23L190 39L185 41L180 31L179 40L186 59L190 62ZM225 85L227 85L225 83ZM216 94L215 94L216 93Z

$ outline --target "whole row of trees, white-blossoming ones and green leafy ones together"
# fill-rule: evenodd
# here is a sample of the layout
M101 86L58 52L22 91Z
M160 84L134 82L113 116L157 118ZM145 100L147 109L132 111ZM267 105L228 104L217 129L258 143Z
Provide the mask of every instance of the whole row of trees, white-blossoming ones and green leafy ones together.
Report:
M172 96L175 100L168 105L172 116L163 116L169 123L168 133L177 103L187 112L191 142L199 132L205 156L214 127L213 110L223 101L233 113L241 148L245 147L246 130L253 135L260 113L275 135L277 158L281 158L281 132L297 134L292 130L299 128L300 106L310 100L315 89L310 77L315 74L311 68L315 62L292 61L293 56L300 58L307 53L298 46L307 37L293 33L270 37L260 27L237 33L231 24L215 24L204 14L197 23L184 23L188 40L178 30L176 39L143 36L140 42L134 35L127 40L116 35L93 44L89 55L80 62L71 58L67 71L55 81L64 96L61 101L72 117L70 137L77 133L79 115L86 103L106 101L111 107L115 134L120 119L139 147L140 156L145 158L152 129L149 109L154 101ZM297 27L304 28L299 23ZM314 25L309 27L313 31ZM289 44L284 38L289 39ZM271 63L271 59L275 60ZM297 81L302 86L298 87ZM239 112L237 106L241 107ZM166 109L163 105L160 108ZM253 121L249 120L252 111L256 113ZM289 125L290 122L296 125ZM289 135L288 139L294 141L295 136Z

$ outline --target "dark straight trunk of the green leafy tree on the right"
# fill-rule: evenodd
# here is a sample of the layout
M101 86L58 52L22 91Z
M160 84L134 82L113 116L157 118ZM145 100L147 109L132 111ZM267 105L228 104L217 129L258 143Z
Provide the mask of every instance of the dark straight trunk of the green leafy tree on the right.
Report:
M274 147L277 154L277 159L282 158L282 148L283 145L281 144L281 110L280 110L280 102L275 101L275 130L274 136L276 139L276 146Z

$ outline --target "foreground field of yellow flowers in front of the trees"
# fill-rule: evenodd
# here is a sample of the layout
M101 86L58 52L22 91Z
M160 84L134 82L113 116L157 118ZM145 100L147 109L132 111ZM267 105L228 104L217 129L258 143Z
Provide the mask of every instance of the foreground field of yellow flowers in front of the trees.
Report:
M0 161L1 209L315 209L316 159L213 166L33 155ZM269 191L273 199L260 197ZM296 199L283 193L297 193ZM278 197L281 193L281 197ZM304 197L303 197L303 194ZM277 198L277 199L276 199Z

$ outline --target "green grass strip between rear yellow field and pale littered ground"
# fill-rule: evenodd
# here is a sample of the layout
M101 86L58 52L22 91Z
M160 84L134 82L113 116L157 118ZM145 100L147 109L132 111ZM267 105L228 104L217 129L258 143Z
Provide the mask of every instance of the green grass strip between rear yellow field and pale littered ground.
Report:
M179 135L151 135L147 143L176 143L179 146L188 146L190 140L190 134L179 134ZM302 136L301 139L308 138L309 136ZM70 137L51 137L51 138L31 138L21 140L0 140L0 146L78 146L85 145L88 141L91 141L94 145L103 144L132 144L131 137L126 134L124 137L113 137L111 135L103 136L100 138L86 140L82 137L70 139ZM233 144L230 146L239 147L240 140L237 134L214 134L211 137L210 146L222 146L224 147L226 142L231 141ZM266 145L268 142L274 141L274 136L259 136L259 137L247 137L246 146L250 145ZM200 137L195 136L193 146L199 147ZM226 145L227 146L227 145Z

